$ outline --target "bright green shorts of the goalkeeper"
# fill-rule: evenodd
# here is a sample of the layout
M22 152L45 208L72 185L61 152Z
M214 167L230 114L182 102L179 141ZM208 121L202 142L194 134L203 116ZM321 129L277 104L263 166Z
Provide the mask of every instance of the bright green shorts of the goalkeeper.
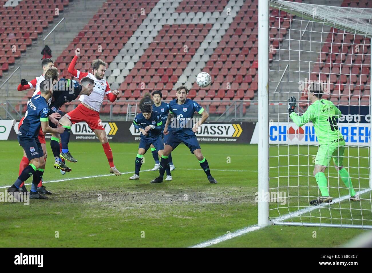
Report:
M344 158L345 146L320 145L315 157L315 165L327 166L332 157L336 166L342 166Z

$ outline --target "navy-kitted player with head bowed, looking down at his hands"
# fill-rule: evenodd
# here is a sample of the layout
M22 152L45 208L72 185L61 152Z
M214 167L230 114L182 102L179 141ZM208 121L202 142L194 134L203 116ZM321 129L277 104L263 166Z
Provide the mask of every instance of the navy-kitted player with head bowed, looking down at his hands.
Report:
M138 153L135 160L135 173L129 179L135 180L140 178L140 169L142 165L142 157L147 152L150 145L153 144L158 152L158 155L163 155L163 139L161 138L162 121L160 115L156 111L152 111L151 105L144 104L141 106L141 114L138 114L133 124L136 129L141 132L140 145L138 146ZM166 180L172 180L170 174L169 163L164 165L167 171ZM163 173L164 174L164 173Z

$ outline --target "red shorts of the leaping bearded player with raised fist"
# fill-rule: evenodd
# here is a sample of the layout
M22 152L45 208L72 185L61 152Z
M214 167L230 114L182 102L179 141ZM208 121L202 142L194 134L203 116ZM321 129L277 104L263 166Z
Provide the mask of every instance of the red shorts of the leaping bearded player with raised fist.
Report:
M99 112L91 110L83 104L79 104L74 110L65 114L65 116L72 124L86 122L92 130L105 130L105 127L102 126Z

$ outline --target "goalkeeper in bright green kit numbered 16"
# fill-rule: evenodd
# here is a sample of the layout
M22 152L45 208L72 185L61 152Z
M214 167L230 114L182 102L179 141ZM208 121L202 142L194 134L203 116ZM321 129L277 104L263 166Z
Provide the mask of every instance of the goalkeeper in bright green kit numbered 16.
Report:
M353 188L349 173L343 167L345 140L336 123L336 118L341 116L341 111L334 106L331 101L321 99L322 95L323 94L319 91L308 91L308 100L310 100L312 104L301 117L294 111L296 107L296 98L291 97L288 100L289 117L299 127L312 121L315 134L320 144L317 156L315 157L315 168L313 174L318 183L321 197L310 201L310 205L319 205L321 203L330 203L332 201L328 193L327 178L324 175L324 171L328 167L332 158L339 171L340 178L344 182L346 188L349 189L349 194L351 196L350 200L360 201L359 195L355 193Z

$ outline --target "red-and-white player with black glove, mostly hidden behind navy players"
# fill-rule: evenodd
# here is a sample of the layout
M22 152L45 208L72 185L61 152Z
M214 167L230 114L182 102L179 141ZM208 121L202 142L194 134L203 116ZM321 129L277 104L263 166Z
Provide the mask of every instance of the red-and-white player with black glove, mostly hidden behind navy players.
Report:
M28 82L26 79L22 79L21 83L18 85L17 90L18 91L24 91L24 90L28 90L30 88L35 88L35 92L33 92L32 97L35 96L35 95L40 94L39 85L45 79L44 78L45 72L47 72L47 70L49 68L53 67L53 65L54 65L54 61L52 59L44 59L41 62L41 66L42 66L42 69L43 69L43 74L39 77L36 77L31 82ZM51 99L49 99L49 101L48 101L48 104L50 104L50 103L51 103ZM54 122L54 121L57 122L57 120L55 120L56 117L58 117L57 114L49 116L49 118L51 119L52 122ZM21 124L23 122L23 119L24 119L24 117L20 120L18 128L21 126ZM43 149L44 160L46 161L47 156L48 156L48 154L47 154L47 144L45 142L44 132L42 131L41 128L40 128L40 131L39 131L38 139L39 139L39 142L41 143L41 147ZM29 165L29 160L26 156L25 151L23 151L23 157L22 157L21 162L19 163L19 173L22 173L23 169L26 168L28 165ZM21 184L21 186L19 188L19 191L21 191L21 192L26 192L27 191L27 189L25 187L25 183ZM52 194L51 192L47 191L45 189L45 187L42 185L42 180L40 181L40 183L38 185L37 191L39 193L42 193L42 194Z

